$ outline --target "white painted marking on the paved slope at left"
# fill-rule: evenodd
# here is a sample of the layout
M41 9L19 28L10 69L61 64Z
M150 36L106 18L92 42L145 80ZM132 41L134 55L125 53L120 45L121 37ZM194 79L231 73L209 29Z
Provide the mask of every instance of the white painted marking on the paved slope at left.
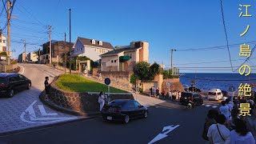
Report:
M62 117L57 117L57 118L37 118L35 112L34 112L34 104L36 103L37 101L34 101L25 111L22 112L20 118L23 122L28 122L28 123L51 123L51 122L61 122L61 121L67 121L67 120L72 120L72 119L76 119L77 117L72 117L72 118L62 118ZM40 107L41 107L41 110L40 110ZM42 116L52 116L52 115L58 115L57 113L50 113L50 114L47 114L46 113L46 110L44 109L44 107L42 105L39 105L38 106ZM28 114L30 116L30 121L27 121L24 116ZM45 114L45 115L43 115ZM33 122L33 121L47 121L47 122Z

